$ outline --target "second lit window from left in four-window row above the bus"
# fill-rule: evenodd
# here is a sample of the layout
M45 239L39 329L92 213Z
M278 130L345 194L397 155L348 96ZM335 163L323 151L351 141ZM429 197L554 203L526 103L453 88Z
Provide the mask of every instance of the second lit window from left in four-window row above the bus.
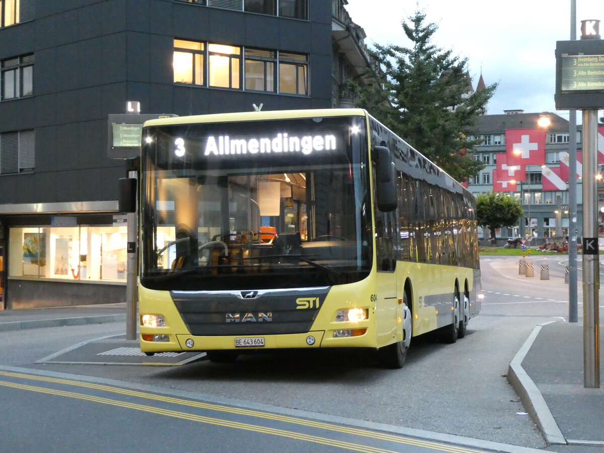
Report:
M241 88L241 48L208 43L208 82L219 88Z

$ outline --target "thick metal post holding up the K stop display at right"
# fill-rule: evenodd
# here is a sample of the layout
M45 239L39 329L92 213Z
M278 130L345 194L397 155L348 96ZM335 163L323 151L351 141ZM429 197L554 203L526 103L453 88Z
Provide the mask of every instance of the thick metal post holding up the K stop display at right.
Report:
M583 110L583 368L585 388L600 388L597 134L597 109ZM572 173L571 179L573 179Z

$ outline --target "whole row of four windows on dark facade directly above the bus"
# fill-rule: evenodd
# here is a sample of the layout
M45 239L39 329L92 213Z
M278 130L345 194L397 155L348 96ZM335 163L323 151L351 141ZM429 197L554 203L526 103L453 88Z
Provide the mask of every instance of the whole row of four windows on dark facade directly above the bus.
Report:
M174 83L308 95L305 54L175 39L173 69Z

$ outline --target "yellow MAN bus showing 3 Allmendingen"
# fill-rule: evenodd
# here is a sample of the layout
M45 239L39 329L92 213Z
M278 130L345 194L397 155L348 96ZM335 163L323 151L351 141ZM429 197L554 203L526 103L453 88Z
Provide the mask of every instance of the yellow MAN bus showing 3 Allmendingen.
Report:
M366 348L400 368L480 311L472 194L362 109L147 121L140 187L147 355Z

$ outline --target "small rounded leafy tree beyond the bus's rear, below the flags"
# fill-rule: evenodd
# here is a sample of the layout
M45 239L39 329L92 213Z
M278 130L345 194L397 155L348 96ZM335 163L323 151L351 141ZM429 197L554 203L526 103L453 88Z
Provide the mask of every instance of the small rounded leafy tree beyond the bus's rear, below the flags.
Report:
M481 193L476 198L478 225L490 229L491 241L495 240L496 228L518 225L524 214L519 198L503 192Z

